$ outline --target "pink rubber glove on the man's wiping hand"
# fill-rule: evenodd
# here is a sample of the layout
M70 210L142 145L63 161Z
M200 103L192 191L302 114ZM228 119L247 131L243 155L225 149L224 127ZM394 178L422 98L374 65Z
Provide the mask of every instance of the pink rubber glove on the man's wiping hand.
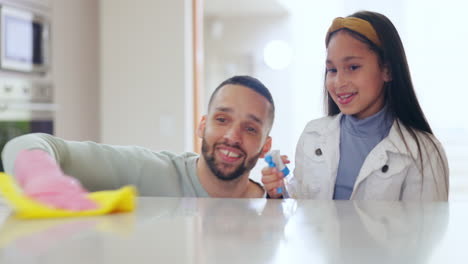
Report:
M15 177L23 192L33 200L73 211L96 209L80 182L62 172L45 151L22 150L15 161Z

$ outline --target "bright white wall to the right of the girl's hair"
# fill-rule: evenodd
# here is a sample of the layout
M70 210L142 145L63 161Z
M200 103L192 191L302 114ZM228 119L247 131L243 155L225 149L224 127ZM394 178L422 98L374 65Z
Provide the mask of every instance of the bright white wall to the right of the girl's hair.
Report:
M468 3L420 0L404 7L408 63L421 107L447 155L450 199L468 201Z

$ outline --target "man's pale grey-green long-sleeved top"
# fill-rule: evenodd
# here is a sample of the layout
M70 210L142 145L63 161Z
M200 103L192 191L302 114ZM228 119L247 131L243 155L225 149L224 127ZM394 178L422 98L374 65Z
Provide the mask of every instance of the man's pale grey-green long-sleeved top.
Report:
M112 146L66 141L48 134L28 134L9 141L2 152L5 171L22 149L42 149L67 175L89 191L117 189L127 184L141 196L209 197L197 176L198 154L154 152L137 146Z

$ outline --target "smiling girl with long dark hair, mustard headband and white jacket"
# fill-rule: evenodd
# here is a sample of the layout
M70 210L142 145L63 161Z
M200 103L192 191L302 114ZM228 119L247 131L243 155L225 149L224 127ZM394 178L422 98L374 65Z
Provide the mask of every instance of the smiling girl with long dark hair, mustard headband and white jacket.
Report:
M446 201L447 159L419 106L390 20L368 11L336 18L325 44L328 116L302 132L286 195ZM268 167L262 174L269 196L282 197L283 174Z

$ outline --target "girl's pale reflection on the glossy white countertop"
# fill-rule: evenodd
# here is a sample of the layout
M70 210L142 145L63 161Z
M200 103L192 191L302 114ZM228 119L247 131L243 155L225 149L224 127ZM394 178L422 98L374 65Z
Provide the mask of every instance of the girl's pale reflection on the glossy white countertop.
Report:
M448 219L446 203L300 200L272 263L427 263Z

